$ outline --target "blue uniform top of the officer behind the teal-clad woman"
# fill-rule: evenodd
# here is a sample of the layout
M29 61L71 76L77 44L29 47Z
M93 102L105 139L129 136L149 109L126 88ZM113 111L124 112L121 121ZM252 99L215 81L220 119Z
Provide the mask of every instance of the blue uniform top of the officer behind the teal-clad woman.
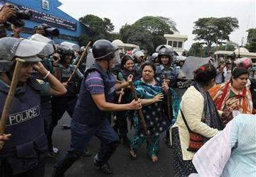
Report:
M167 78L170 80L169 86L174 87L178 76L178 69L176 67L170 67L167 70L162 64L156 68L156 77L158 77L161 82L165 79L165 74L167 74Z

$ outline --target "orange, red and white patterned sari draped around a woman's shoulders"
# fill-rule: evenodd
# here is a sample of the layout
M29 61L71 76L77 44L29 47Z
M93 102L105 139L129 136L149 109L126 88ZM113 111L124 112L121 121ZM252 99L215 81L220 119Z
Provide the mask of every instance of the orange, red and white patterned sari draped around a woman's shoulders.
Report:
M252 114L252 95L250 89L246 86L238 94L230 98L231 83L225 82L224 84L219 84L213 86L210 89L210 96L213 98L213 102L218 110L224 110L226 106L232 108L233 110L239 110L243 114Z

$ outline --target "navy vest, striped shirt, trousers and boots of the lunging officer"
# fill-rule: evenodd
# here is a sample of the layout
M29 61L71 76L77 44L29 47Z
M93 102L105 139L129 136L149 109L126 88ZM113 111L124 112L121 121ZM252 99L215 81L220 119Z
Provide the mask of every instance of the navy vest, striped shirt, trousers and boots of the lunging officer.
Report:
M98 84L100 82L102 84ZM104 91L106 101L113 103L115 82L114 76L104 72L97 63L85 72L78 103L75 106L75 113L71 120L70 149L64 159L59 161L56 166L56 170L61 171L60 173L64 173L79 159L87 143L90 142L94 135L101 141L100 152L95 157L97 161L105 164L114 153L119 144L119 137L107 120L109 113L97 108L91 94L100 93L100 89L102 89L101 91Z

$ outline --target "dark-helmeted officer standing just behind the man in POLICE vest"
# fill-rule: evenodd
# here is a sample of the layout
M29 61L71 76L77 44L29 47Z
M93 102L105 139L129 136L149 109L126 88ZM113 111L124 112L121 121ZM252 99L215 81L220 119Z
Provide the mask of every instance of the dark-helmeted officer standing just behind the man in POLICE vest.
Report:
M75 76L73 76L71 81L67 84L68 79L75 70L75 65L71 64L74 58L74 51L70 47L60 45L60 47L58 47L57 52L59 54L60 59L57 59L59 63L56 64L55 67L55 76L68 89L68 92L65 93L65 95L63 96L54 96L51 101L53 116L52 122L50 123L50 127L48 130L49 149L53 149L51 137L53 135L54 127L58 125L58 120L62 118L65 111L68 112L71 118L73 116L75 103L77 102L78 98L77 82L83 78L82 73L78 69L75 73ZM63 126L64 128L69 128L69 125Z

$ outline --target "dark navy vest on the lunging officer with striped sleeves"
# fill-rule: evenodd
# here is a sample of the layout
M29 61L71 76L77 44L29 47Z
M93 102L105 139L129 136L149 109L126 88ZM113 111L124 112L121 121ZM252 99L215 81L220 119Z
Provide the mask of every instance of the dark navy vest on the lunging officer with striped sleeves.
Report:
M102 68L97 64L97 62L95 62L95 64L92 65L90 69L87 69L85 76L82 79L82 86L73 115L74 120L85 125L99 125L102 120L107 118L108 113L97 108L97 105L92 100L90 91L88 91L85 87L85 80L87 75L94 71L97 71L97 73L99 73L102 77L106 101L109 103L114 102L114 85L116 84L116 80L113 74L104 72Z

